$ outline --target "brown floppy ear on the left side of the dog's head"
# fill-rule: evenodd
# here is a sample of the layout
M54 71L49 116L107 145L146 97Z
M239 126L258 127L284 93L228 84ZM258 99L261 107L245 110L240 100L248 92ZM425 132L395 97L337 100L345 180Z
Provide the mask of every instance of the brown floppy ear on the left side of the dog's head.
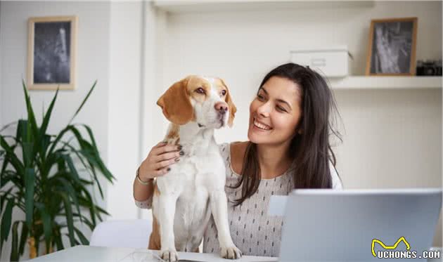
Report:
M174 83L157 101L165 117L174 124L186 124L194 118L191 98L186 89L188 81L189 77L186 77Z

